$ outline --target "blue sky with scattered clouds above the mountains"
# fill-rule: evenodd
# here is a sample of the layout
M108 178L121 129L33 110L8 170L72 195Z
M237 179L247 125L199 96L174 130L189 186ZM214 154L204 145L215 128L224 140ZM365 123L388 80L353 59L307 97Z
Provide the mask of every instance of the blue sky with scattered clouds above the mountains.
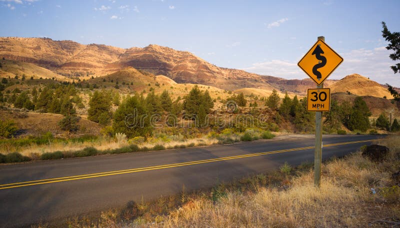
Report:
M381 21L400 31L399 0L0 0L0 36L50 37L122 48L186 50L221 67L302 79L298 60L316 41L359 73L400 87Z

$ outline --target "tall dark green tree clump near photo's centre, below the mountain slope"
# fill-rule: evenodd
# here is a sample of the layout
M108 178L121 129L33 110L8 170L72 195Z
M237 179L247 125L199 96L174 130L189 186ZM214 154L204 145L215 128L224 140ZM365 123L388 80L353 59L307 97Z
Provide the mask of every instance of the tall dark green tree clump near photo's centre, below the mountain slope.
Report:
M188 117L192 117L193 120L195 116L198 116L200 107L204 109L205 113L209 113L213 105L214 102L209 96L208 90L201 92L197 85L190 90L183 101L183 109Z

